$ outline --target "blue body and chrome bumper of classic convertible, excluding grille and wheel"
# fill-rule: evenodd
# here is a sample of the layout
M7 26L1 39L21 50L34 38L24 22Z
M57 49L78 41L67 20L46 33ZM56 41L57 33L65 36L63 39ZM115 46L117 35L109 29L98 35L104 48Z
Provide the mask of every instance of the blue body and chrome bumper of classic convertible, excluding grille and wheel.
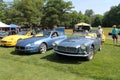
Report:
M100 38L85 38L85 37L70 37L62 41L55 41L56 46L53 48L53 51L60 55L66 55L66 56L77 56L77 57L86 57L89 55L90 47L91 45L94 45L94 51L97 51L100 48L101 45L101 39ZM63 51L59 50L58 46L66 48L65 50L68 50L69 48L73 49L80 49L81 45L86 46L86 51L83 51L81 53L77 52L74 53L73 51ZM83 54L84 53L84 54Z

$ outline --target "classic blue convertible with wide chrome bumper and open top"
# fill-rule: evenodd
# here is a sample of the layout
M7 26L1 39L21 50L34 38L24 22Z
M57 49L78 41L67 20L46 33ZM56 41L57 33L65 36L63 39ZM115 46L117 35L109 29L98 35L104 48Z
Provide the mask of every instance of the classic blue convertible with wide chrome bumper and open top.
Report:
M53 51L56 54L85 57L87 60L93 59L97 50L101 50L101 39L96 37L96 35L87 36L79 32L74 32L71 37L53 43Z

